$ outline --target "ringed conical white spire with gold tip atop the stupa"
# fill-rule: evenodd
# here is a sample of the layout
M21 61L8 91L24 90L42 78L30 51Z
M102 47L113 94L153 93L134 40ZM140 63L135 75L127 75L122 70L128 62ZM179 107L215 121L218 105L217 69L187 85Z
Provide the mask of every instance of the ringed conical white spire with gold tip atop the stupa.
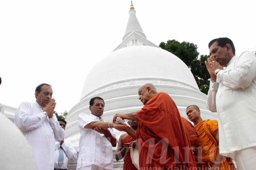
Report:
M125 40L126 37L128 37L129 34L132 32L136 32L137 34L140 34L142 37L146 38L145 34L142 31L142 28L140 26L140 23L136 17L136 11L134 10L133 3L131 1L131 7L129 11L130 17L126 26L125 35L123 37L123 40Z

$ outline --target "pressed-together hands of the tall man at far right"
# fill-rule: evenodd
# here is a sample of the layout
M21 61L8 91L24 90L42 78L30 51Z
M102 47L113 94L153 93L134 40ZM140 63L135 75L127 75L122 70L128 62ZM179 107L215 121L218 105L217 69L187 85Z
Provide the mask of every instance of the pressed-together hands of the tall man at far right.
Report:
M220 63L218 63L215 59L215 57L209 57L207 58L207 61L204 62L207 70L211 76L211 80L212 81L216 81L216 75L215 75L215 70L216 69L221 69L223 70L224 68L220 65Z

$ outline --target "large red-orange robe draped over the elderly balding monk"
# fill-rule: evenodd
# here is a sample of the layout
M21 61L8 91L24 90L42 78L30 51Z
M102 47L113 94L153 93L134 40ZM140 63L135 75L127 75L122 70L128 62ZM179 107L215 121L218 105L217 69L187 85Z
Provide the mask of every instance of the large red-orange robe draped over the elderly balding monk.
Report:
M140 169L196 169L180 113L168 94L154 94L136 115Z

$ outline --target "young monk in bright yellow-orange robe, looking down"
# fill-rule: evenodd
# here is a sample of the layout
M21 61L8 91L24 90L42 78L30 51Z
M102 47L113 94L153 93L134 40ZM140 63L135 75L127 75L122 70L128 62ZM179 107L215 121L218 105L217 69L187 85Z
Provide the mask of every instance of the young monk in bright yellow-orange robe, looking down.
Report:
M231 158L219 154L218 121L203 120L200 109L196 105L186 108L186 115L198 130L198 140L195 142L194 156L199 170L236 170Z

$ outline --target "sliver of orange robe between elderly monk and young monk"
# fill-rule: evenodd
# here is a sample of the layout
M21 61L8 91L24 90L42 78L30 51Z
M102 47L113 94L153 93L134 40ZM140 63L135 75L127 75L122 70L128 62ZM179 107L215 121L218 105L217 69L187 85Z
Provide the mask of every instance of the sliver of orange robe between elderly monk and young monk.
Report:
M181 121L185 126L185 130L189 138L190 146L194 146L196 140L198 139L197 130L195 129L194 125L192 125L192 123L190 123L187 119L181 117Z

